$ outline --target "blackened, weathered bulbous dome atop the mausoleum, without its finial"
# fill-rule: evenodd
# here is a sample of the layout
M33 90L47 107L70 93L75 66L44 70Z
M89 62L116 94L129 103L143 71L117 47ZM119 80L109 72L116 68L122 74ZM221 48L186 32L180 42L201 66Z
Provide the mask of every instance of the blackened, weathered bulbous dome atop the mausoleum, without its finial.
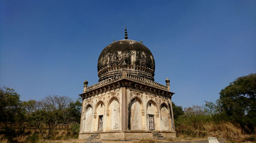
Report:
M134 40L120 40L106 46L99 55L99 81L120 74L125 63L126 73L154 80L155 60L151 51Z

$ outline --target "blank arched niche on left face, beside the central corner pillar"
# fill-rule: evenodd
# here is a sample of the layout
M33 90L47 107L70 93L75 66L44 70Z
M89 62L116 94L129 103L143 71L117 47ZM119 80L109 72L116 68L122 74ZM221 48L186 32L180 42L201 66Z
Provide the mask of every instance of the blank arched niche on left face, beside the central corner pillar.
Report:
M108 128L109 130L120 129L120 112L119 112L119 101L116 97L113 97L108 105L109 119Z

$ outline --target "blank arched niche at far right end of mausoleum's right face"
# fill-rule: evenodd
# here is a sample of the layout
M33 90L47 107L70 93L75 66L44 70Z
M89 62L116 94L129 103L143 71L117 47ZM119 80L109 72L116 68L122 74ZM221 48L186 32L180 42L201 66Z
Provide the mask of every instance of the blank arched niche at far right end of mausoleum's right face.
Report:
M165 103L160 106L160 126L162 131L170 130L169 109Z

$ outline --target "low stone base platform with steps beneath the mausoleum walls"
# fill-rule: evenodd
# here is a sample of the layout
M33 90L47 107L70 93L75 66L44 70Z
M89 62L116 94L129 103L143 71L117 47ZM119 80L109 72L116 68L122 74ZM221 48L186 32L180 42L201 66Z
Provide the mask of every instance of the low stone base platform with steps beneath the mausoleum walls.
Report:
M101 140L134 140L142 138L152 138L153 132L159 132L163 137L176 137L176 131L144 131L144 130L117 130L101 132L80 132L79 139L88 139L93 134L99 133Z

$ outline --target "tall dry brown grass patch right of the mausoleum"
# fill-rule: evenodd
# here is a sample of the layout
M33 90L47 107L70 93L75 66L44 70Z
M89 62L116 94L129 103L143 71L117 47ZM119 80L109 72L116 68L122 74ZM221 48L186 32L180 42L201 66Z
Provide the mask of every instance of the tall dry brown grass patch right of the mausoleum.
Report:
M248 135L242 131L238 124L230 122L215 123L207 122L201 127L195 125L182 125L177 128L177 138L174 141L190 139L207 139L207 137L225 138L226 142L256 142L255 134Z

